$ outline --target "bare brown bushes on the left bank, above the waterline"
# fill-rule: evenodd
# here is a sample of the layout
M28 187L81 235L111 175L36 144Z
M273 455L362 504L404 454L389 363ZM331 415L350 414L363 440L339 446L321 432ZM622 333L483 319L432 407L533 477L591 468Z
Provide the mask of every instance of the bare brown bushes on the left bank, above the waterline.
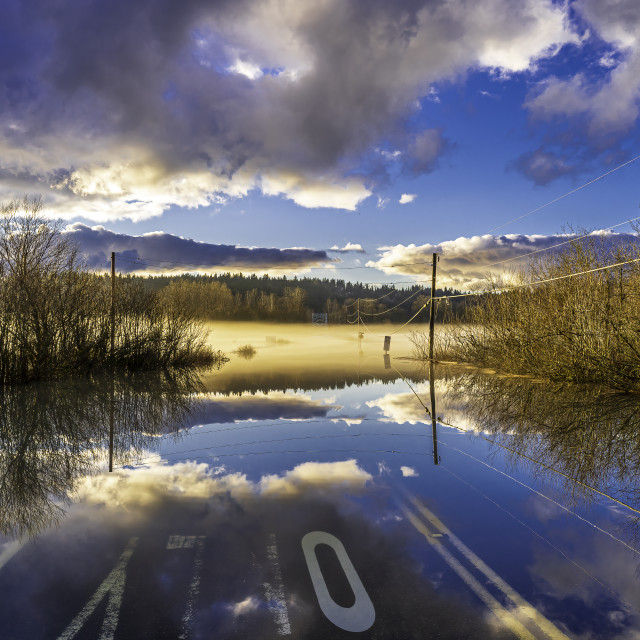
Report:
M78 249L43 216L40 200L0 208L0 384L116 367L211 365L203 322L176 300L119 278L110 348L109 278L83 268Z

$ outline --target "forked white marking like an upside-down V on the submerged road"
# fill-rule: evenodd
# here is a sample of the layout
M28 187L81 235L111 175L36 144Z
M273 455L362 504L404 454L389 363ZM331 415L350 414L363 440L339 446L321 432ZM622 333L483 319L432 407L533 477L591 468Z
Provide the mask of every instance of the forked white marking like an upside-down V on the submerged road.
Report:
M109 594L109 602L107 603L107 611L100 631L100 640L113 640L113 635L118 626L118 614L122 605L127 564L137 544L138 538L129 539L129 543L122 552L116 566L96 589L96 592L83 607L82 611L58 637L58 640L71 640L71 638L74 638L107 593Z

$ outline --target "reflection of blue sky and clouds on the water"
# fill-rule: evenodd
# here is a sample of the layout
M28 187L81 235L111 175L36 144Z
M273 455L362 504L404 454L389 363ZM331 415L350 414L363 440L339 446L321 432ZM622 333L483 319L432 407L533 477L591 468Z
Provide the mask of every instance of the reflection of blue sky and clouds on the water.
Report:
M406 363L403 371L411 376ZM429 406L423 373L416 368L410 380ZM455 384L455 378L437 381L437 413L460 424L464 403L446 402ZM159 438L139 465L80 478L61 528L28 542L0 567L6 600L0 598L0 620L10 620L10 607L31 611L35 604L27 603L55 603L58 591L67 601L55 610L45 605L39 614L39 628L55 633L39 635L27 617L0 623L1 637L12 637L11 630L34 640L57 637L132 535L139 536L140 549L131 560L131 588L154 598L164 594L164 623L179 626L195 552L172 555L163 545L171 535L204 535L208 573L194 624L216 629L219 637L262 637L257 630L272 625L261 586L272 532L294 633L330 637L327 630L335 629L323 626L328 623L296 555L301 536L311 530L343 541L380 612L379 629L400 624L400 612L412 637L421 619L418 595L431 603L442 598L438 605L450 623L463 610L463 618L484 624L480 603L407 521L403 490L565 633L633 638L640 630L631 610L640 602L640 560L623 544L630 544L620 530L623 510L604 498L570 502L548 475L532 477L483 439L485 433L474 432L469 418L462 425L471 429L467 433L438 426L440 464L434 465L431 421L401 378L240 395L220 393L211 380L207 386L192 416L195 426ZM562 508L567 505L575 515ZM13 548L8 541L0 545L0 558ZM136 607L152 619L157 603L148 599L139 596ZM133 616L124 605L122 615ZM148 632L144 616L126 619L131 629ZM454 627L443 625L443 637L470 637L468 630L457 629L462 635L456 636Z

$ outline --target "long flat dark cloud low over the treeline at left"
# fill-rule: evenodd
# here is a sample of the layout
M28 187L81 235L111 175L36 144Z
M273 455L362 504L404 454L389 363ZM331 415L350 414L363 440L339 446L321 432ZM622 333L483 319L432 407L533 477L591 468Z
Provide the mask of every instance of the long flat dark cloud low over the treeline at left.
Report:
M125 272L171 267L178 270L213 270L219 267L233 270L240 266L264 270L273 267L304 269L333 262L326 251L314 249L208 244L163 232L129 236L81 223L70 225L65 233L78 244L87 266L93 269L107 269L112 251L120 258L118 270Z

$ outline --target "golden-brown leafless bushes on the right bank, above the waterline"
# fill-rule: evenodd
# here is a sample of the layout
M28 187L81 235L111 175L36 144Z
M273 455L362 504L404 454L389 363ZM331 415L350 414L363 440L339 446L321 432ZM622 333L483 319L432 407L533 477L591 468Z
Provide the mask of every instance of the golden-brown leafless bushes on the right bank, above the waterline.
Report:
M462 321L441 328L438 358L640 391L640 263L567 277L639 257L640 244L593 236L488 280Z

